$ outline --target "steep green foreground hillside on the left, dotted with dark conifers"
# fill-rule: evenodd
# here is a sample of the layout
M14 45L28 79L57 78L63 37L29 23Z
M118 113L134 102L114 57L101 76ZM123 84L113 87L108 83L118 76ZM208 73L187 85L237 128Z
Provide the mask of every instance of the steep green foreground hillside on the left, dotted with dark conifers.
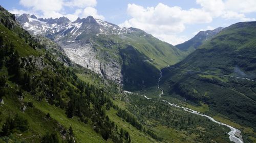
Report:
M0 22L0 142L156 142L153 136L159 139L152 133L140 133L143 126L131 113L125 112L132 119L125 122L131 122L129 128L117 123L122 117L110 119L113 114L107 111L119 109L113 103L120 96L116 85L110 82L102 88L80 80L74 72L86 70L55 60L46 45L26 33L12 14L1 7L0 15L1 21L5 21ZM84 74L90 81L99 79L92 73Z

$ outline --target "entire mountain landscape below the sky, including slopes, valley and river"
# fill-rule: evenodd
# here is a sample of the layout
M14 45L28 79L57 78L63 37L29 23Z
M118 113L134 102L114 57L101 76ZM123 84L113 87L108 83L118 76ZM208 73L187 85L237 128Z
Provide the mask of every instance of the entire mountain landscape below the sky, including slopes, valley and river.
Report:
M173 46L92 16L0 6L0 142L255 142L255 29Z

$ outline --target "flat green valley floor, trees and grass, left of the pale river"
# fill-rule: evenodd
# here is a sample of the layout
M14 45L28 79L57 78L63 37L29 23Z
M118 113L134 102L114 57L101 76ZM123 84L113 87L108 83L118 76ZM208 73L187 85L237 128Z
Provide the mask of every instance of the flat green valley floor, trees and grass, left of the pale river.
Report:
M209 121L208 118L170 107L159 99L148 100L136 95L131 95L129 99L130 104L127 105L129 111L163 141L229 142L226 134L229 129Z

